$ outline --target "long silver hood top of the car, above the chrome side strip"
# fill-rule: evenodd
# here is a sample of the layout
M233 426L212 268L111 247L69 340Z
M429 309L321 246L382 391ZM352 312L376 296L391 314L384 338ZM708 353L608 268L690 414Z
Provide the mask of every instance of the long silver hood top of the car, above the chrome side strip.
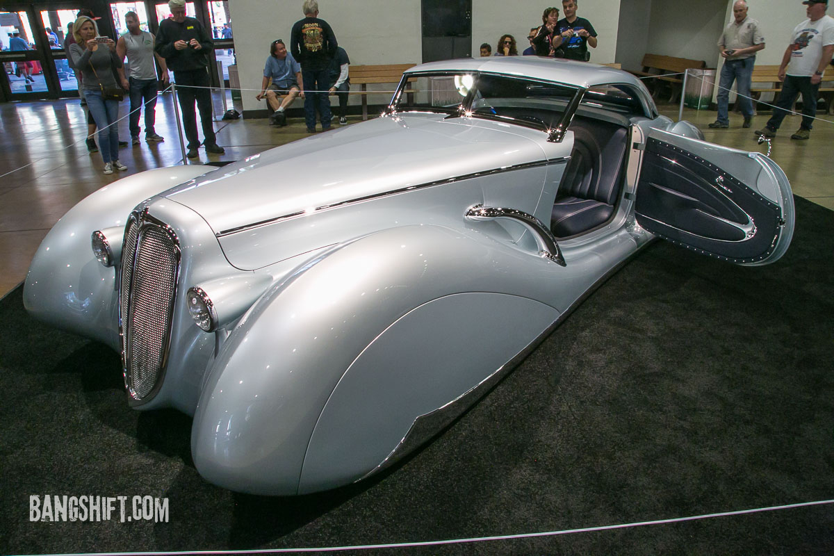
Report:
M540 136L540 137L539 137ZM214 233L409 186L540 161L544 134L438 114L376 118L270 149L163 195Z

